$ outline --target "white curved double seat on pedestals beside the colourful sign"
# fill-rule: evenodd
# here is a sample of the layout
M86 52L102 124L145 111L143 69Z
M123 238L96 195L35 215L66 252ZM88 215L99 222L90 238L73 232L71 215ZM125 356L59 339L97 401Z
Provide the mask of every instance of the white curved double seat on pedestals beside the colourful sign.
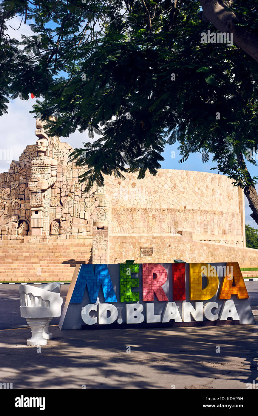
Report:
M32 329L31 339L27 345L46 345L52 338L49 334L49 323L53 317L61 315L63 299L60 296L61 284L46 283L40 287L20 285L21 317L26 318Z

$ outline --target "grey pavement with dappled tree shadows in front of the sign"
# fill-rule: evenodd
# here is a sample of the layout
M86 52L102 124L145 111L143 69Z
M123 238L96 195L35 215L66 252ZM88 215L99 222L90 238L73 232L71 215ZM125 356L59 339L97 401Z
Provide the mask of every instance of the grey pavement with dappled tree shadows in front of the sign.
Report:
M249 294L254 285L256 294L257 282L246 285ZM258 322L258 306L252 310ZM50 329L54 339L41 352L27 347L29 328L0 331L0 382L13 389L246 389L258 379L256 325Z

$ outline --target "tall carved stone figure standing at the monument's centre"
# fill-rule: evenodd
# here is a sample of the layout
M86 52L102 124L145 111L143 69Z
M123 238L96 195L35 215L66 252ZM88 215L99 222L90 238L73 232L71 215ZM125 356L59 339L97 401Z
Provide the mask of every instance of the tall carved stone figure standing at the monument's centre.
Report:
M49 235L51 187L56 182L57 162L49 156L49 137L43 129L36 133L37 156L31 162L28 183L32 210L32 235Z

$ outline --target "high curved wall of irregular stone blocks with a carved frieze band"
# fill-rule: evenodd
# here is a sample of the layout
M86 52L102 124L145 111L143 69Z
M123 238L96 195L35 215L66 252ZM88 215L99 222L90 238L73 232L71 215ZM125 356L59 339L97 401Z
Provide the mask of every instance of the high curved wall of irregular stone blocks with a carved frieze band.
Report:
M243 192L215 173L159 169L141 180L105 177L113 235L193 233L194 240L245 246Z

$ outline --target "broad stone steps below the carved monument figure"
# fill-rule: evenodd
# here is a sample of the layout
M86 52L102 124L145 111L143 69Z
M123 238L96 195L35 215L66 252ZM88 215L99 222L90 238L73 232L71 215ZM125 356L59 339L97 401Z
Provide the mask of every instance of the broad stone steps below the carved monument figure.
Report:
M92 263L92 240L0 242L0 282L70 281L76 263Z

